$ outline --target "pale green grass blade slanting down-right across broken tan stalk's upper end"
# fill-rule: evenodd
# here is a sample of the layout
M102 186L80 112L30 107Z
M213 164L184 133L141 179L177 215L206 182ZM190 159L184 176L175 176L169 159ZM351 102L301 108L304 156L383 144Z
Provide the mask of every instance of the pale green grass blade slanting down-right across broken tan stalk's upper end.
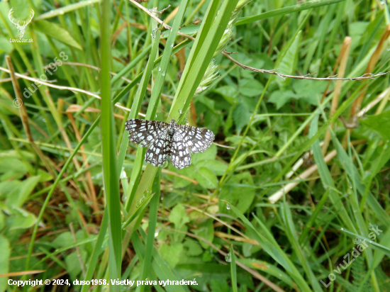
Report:
M313 120L311 120L311 125L308 131L308 137L313 137L318 131L318 115L316 115ZM311 145L311 149L313 150L313 157L314 161L316 162L318 166L318 174L320 174L320 179L325 186L325 188L329 188L329 196L330 201L332 201L333 204L335 202L340 202L340 194L336 191L333 191L336 189L335 183L333 181L332 175L329 172L328 166L325 163L325 160L323 159L320 142L319 140L313 141L313 144ZM340 220L344 223L345 227L347 227L350 230L355 230L355 225L352 223L352 220L350 216L347 213L347 210L345 210L344 206L342 204L338 203L335 204L336 210L338 210L338 214L340 216Z

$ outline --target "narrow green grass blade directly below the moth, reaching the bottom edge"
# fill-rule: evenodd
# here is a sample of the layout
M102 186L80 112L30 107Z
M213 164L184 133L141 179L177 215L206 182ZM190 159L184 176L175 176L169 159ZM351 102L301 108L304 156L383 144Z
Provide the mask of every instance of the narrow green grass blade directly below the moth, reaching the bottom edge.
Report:
M161 168L157 170L157 174L155 176L155 180L153 181L153 185L152 185L152 193L155 193L155 195L153 196L152 201L150 201L149 225L147 226L145 259L143 261L143 267L140 273L140 281L142 281L147 277L147 272L150 270L152 249L155 243L155 230L156 230L156 223L157 223L158 204L160 203L160 176L161 176ZM137 291L139 292L143 292L144 289L145 286L137 287Z

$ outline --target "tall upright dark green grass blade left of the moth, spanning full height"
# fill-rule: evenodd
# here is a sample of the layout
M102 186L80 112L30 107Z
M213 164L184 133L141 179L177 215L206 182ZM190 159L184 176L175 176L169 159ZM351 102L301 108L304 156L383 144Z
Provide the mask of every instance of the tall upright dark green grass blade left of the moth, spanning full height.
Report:
M119 177L116 166L116 143L113 128L113 105L111 103L110 63L111 63L111 35L110 1L102 0L101 11L101 146L103 155L104 191L106 193L109 225L110 245L110 278L121 276L121 206L119 198ZM118 286L112 286L118 291Z

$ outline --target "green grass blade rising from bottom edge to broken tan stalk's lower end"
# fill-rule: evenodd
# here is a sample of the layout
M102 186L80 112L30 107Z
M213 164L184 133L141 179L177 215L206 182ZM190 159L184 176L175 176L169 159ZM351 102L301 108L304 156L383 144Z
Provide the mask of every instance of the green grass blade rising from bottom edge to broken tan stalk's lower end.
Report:
M301 245L299 245L298 235L296 234L294 221L292 219L291 210L289 205L286 203L286 195L283 196L283 203L280 204L282 208L282 218L284 220L284 231L286 232L287 237L289 238L289 243L292 245L295 256L299 258L299 262L303 267L303 271L305 271L308 281L311 283L311 287L314 291L323 291L321 289L320 283L316 279L316 276L311 269L310 264L308 264L308 260L306 259L306 255L303 254L303 250L301 249ZM294 259L291 259L294 260Z

